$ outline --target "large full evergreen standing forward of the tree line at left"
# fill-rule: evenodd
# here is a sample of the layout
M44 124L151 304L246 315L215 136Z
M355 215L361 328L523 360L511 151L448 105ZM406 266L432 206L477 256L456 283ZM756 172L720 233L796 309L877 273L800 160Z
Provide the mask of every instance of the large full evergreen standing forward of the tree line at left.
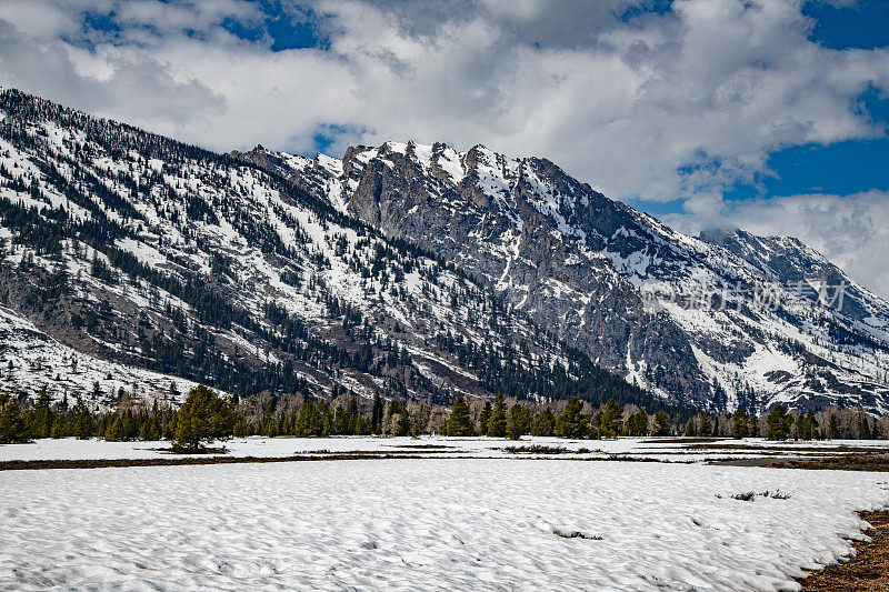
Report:
M233 427L233 407L200 384L189 391L179 408L176 443L184 450L198 451L203 442L231 435Z

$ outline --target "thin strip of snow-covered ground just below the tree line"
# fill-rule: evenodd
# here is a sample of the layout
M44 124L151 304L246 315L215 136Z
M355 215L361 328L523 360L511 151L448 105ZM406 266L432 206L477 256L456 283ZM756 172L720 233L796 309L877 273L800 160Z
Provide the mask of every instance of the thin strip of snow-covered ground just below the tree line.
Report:
M606 459L619 454L631 460L640 458L670 462L701 462L717 459L760 458L768 454L820 454L813 449L831 449L842 453L843 448L887 449L887 440L830 440L825 442L770 442L763 439L745 440L677 440L621 438L619 440L562 440L559 438L523 437L520 441L496 438L236 438L214 444L226 446L229 456L292 456L296 454L337 454L344 452L379 452L433 458L533 458L551 454L510 453L510 446L563 448L571 458ZM697 446L711 446L701 449ZM176 456L163 449L170 442L106 442L103 440L39 440L29 444L0 444L0 462L10 460L82 460L82 459L160 459ZM780 449L780 450L770 450ZM790 452L788 452L790 451ZM559 458L565 458L560 454Z

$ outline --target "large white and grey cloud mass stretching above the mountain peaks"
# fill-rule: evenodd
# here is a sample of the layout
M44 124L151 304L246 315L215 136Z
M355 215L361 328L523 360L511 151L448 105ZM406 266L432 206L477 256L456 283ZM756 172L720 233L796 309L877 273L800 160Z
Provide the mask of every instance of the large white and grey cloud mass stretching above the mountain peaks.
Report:
M798 2L677 0L671 14L615 17L633 3L318 0L330 51L271 53L269 39L220 27L259 22L252 2L10 1L0 18L17 34L0 77L58 100L81 88L77 107L219 150L304 151L324 124L361 130L337 149L483 142L548 155L622 199L719 190L762 171L776 148L879 133L855 100L868 84L889 88L889 53L812 43ZM122 30L83 33L93 4ZM34 51L10 59L21 39ZM146 104L161 91L174 100Z

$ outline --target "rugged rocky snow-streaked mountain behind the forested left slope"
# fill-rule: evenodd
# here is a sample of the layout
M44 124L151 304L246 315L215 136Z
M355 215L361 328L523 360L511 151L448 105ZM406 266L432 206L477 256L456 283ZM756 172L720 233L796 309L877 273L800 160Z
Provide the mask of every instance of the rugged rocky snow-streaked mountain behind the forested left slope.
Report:
M387 142L233 157L453 261L598 363L683 403L889 411L889 303L796 239L692 238L539 158Z

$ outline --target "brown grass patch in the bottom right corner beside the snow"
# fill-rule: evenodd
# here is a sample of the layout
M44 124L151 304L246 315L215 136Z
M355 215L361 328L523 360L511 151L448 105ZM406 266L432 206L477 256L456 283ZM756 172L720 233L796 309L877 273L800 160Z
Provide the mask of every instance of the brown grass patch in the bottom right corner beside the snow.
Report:
M857 542L856 556L845 563L828 565L803 580L807 592L889 591L889 511L859 512L870 522L871 542Z

